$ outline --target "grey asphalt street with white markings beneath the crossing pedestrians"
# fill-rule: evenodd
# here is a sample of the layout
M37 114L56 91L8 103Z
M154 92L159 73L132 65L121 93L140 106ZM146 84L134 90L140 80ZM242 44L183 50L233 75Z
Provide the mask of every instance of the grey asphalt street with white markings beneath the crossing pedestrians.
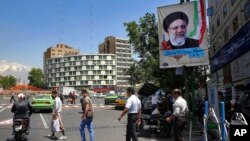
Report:
M93 99L94 102L94 128L96 141L125 140L126 117L118 122L117 117L120 110L114 110L114 105L103 105L103 99ZM0 100L0 141L10 141L12 113L10 112L12 104L8 99ZM81 120L81 107L79 99L77 104L65 104L63 106L62 117L66 128L66 140L80 141L79 123ZM49 141L46 136L50 133L51 113L34 113L31 117L31 131L28 135L29 141ZM87 132L86 132L87 133ZM60 136L59 133L56 134ZM86 134L89 138L88 133ZM189 139L188 131L185 131L185 140ZM140 141L173 141L173 136L168 138L158 138L154 134L139 134ZM202 134L192 136L192 140L201 140Z

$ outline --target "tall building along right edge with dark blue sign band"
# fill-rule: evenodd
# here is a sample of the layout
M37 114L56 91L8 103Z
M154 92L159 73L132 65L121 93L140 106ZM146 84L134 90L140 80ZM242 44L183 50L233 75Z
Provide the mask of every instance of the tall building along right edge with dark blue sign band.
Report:
M228 99L250 90L250 1L208 0L211 83Z

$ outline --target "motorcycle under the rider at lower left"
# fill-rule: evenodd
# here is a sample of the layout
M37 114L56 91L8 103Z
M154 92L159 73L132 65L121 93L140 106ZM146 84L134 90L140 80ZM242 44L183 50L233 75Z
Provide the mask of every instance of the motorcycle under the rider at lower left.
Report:
M14 119L13 120L13 135L15 141L25 140L28 134L29 119Z

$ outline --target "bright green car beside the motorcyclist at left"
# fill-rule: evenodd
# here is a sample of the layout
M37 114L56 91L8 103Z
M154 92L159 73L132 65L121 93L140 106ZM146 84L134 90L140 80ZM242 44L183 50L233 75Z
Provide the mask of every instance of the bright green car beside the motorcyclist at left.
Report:
M49 110L50 112L52 112L53 104L54 104L54 100L51 94L36 95L31 101L31 106L34 111Z

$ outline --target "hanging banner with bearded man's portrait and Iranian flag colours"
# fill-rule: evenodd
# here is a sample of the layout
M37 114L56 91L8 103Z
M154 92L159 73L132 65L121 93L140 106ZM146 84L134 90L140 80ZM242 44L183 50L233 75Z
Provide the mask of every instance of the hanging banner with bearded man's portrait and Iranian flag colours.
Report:
M160 68L208 65L203 0L157 8Z

